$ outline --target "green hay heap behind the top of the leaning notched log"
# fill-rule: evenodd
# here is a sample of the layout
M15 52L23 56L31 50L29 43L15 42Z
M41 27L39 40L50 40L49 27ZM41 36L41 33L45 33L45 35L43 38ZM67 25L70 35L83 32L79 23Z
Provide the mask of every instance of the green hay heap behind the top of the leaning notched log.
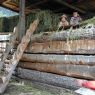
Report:
M37 19L37 18L40 20L40 24L37 28L36 33L54 31L57 29L58 22L59 22L58 14L54 14L51 11L41 11L41 12L38 12L37 14L29 14L27 16L26 26L29 26L29 24L34 19Z

